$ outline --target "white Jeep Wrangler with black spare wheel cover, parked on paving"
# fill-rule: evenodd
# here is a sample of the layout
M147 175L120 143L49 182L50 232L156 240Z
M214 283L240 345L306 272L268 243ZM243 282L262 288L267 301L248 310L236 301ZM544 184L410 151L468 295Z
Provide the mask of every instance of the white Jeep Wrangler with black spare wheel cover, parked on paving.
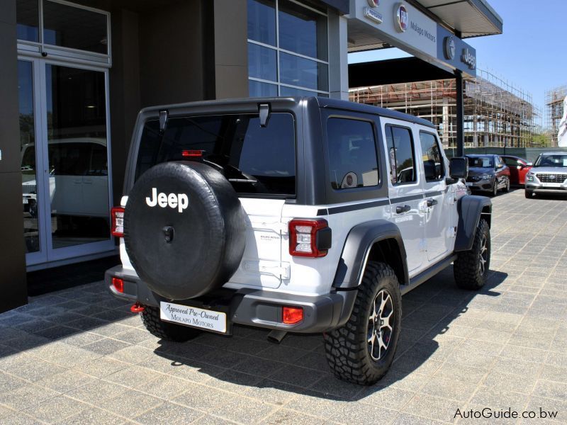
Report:
M393 361L401 295L454 264L478 289L491 203L468 196L432 123L327 98L144 109L113 234L111 292L147 329L185 341L233 324L322 333L343 380Z

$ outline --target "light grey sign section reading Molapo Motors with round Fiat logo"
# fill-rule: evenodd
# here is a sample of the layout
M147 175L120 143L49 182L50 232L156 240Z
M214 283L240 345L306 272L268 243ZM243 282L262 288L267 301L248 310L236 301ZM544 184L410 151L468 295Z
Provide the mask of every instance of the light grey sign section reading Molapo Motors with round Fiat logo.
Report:
M371 7L368 0L355 0L351 17L378 30L378 38L419 55L437 56L437 23L410 4L400 0L380 0ZM352 13L354 9L354 13ZM377 17L381 19L377 19ZM368 32L374 31L368 28Z

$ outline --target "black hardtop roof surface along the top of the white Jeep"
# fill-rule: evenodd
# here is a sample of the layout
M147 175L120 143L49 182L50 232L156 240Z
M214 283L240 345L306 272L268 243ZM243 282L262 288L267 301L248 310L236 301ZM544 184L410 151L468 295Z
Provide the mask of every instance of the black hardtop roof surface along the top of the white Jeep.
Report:
M174 115L176 110L185 110L187 108L206 108L210 112L214 111L214 108L219 110L228 110L230 106L254 106L257 107L259 103L272 103L279 104L280 106L293 106L298 105L302 101L306 102L316 102L320 108L337 108L344 111L371 113L374 115L380 115L386 118L393 118L396 120L403 120L409 123L415 123L424 125L426 127L435 128L433 123L423 118L418 118L414 115L409 115L407 113L401 113L398 111L393 111L391 109L379 108L378 106L365 105L364 103L356 103L350 101L342 101L339 99L322 98L314 96L305 97L261 97L261 98L235 98L235 99L223 99L215 101L198 101L189 103L175 103L172 105L161 105L161 106L150 106L142 109L143 114L157 113L167 109L170 114Z

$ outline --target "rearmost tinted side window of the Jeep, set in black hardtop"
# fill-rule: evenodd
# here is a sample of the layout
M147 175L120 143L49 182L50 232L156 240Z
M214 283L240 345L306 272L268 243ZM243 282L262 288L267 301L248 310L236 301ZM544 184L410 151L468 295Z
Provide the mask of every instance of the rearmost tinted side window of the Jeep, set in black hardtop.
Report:
M334 189L378 185L374 127L367 121L327 120L329 170Z

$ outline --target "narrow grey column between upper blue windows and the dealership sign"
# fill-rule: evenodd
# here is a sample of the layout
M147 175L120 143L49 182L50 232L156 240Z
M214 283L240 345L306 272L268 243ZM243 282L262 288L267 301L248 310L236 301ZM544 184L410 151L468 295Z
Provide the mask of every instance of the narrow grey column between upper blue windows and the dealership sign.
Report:
M330 97L349 100L347 18L329 11Z

